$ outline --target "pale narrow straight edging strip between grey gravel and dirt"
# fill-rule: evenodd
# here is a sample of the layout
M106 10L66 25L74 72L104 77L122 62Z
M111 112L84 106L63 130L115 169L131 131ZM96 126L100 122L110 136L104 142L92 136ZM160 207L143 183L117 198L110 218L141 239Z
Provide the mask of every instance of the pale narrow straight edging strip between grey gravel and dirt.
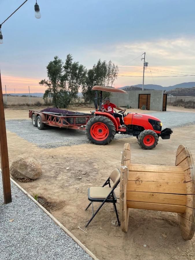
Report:
M0 169L1 170L1 169ZM59 226L69 237L71 237L85 252L92 257L94 260L99 260L86 246L84 246L68 229L65 228L56 218L54 218L47 209L45 209L40 203L38 203L26 190L24 190L17 182L15 182L12 178L10 180L24 193L26 194L36 205L38 205L42 211L44 211L57 226Z

